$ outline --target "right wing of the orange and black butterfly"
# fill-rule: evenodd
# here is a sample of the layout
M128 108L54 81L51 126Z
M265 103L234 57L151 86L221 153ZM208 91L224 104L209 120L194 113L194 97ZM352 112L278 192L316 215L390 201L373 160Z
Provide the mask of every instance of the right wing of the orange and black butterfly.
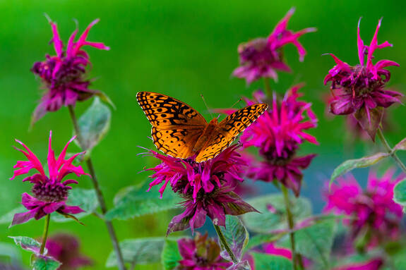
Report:
M244 129L261 116L267 104L253 104L227 116L216 128L215 136L196 157L197 162L213 159L226 149Z

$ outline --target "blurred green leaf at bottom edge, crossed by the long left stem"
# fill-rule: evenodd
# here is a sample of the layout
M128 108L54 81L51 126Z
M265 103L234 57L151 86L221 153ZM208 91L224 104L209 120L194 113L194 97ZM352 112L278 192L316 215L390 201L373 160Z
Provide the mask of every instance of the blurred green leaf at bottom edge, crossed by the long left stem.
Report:
M124 262L129 264L155 264L161 261L165 238L138 238L120 242ZM106 267L117 266L115 252L111 252Z

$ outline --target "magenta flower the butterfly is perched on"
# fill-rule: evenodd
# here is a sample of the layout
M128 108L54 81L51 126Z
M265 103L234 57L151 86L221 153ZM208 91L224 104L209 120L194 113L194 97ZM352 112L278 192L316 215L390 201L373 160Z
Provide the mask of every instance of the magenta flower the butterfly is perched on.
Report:
M154 171L150 176L154 185L162 184L159 192L162 197L167 184L183 199L184 212L174 216L169 223L167 234L191 228L200 228L206 216L215 225L225 226L225 215L237 216L249 211L256 211L229 187L229 178L242 181L239 176L241 166L246 166L236 151L238 145L228 147L214 159L196 163L191 159L177 159L150 151L161 164L147 171ZM227 178L227 179L226 179ZM150 189L149 189L150 190ZM149 191L148 190L148 191Z

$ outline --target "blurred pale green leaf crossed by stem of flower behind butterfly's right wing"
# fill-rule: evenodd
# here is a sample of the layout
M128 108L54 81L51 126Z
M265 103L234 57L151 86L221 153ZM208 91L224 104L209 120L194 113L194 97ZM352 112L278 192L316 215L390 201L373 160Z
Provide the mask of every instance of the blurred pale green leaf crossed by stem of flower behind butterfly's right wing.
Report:
M261 214L247 213L242 216L244 224L250 231L268 234L275 229L286 227L286 208L282 195L265 195L247 200L247 202L261 212ZM289 197L289 202L292 204L291 210L295 219L311 215L311 203L306 198ZM268 210L268 205L272 205L275 208L275 213L271 213Z

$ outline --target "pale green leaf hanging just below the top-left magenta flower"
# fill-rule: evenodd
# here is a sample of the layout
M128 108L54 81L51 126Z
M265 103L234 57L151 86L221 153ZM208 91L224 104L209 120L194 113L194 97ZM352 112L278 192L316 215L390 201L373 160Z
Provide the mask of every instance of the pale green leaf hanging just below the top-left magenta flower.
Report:
M95 97L94 102L82 116L78 125L82 142L80 147L88 152L105 137L110 127L112 112L109 107Z

